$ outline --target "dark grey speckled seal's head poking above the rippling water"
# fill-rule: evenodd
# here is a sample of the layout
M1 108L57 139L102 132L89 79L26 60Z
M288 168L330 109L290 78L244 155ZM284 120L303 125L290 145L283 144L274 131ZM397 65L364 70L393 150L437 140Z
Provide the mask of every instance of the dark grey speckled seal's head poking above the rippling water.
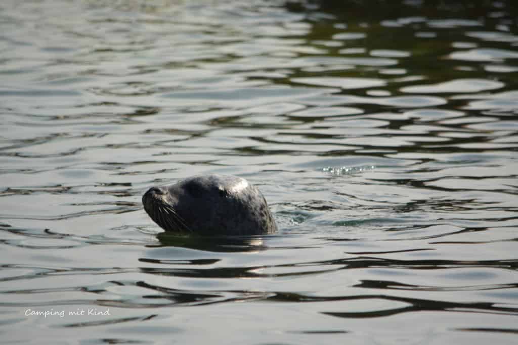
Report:
M151 219L167 232L211 235L263 235L277 231L266 199L244 178L204 175L142 196Z

